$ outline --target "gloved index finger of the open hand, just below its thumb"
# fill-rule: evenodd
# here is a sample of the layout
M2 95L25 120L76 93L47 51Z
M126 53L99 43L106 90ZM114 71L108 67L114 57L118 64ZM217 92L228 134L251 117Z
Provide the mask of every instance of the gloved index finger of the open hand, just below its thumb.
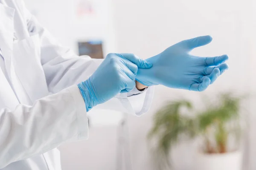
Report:
M210 67L210 66L218 66L226 62L227 59L228 59L228 56L225 54L218 57L202 57L201 62L202 62L202 65Z

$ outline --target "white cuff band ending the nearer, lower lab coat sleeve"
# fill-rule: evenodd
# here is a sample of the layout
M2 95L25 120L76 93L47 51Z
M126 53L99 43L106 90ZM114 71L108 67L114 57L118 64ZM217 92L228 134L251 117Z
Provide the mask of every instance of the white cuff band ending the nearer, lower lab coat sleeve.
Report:
M72 94L75 105L76 105L76 116L77 116L77 126L78 126L78 139L83 140L88 138L88 119L87 112L85 108L84 99L77 85L73 85L68 88Z

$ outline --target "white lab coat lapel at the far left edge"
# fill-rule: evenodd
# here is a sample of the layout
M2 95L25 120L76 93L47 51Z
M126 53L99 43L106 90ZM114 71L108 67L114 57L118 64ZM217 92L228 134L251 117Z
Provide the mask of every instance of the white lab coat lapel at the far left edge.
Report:
M6 72L12 79L12 49L14 38L14 13L15 10L0 3L0 49L6 65Z

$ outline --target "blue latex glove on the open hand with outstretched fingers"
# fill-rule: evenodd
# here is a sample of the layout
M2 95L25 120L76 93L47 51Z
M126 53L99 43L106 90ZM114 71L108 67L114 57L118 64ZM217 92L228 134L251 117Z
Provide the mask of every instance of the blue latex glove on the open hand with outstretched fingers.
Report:
M204 91L227 68L227 55L197 57L189 54L192 49L207 45L210 36L181 41L162 53L146 59L153 64L150 69L139 69L136 80L143 85L164 85L191 91Z

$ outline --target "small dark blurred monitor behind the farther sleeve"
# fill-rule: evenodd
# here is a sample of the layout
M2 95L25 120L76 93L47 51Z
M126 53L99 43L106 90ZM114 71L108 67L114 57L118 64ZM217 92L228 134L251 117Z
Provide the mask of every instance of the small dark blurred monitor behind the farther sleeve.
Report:
M91 58L103 59L102 41L78 42L79 56L88 55Z

